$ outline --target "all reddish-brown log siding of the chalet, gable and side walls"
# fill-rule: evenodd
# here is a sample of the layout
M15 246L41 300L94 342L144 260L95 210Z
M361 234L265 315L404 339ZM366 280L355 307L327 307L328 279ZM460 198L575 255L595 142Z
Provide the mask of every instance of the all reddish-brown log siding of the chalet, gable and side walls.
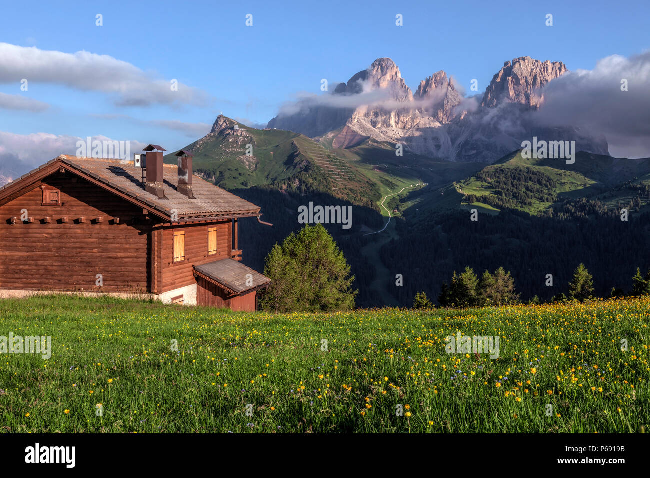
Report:
M59 201L44 205L44 191L48 199L59 192ZM21 220L23 209L33 222ZM169 224L148 217L141 205L71 172L44 176L0 202L0 288L161 294L196 284L194 265L231 257L229 219ZM185 232L185 258L174 262L176 231ZM254 297L235 304L254 310Z

